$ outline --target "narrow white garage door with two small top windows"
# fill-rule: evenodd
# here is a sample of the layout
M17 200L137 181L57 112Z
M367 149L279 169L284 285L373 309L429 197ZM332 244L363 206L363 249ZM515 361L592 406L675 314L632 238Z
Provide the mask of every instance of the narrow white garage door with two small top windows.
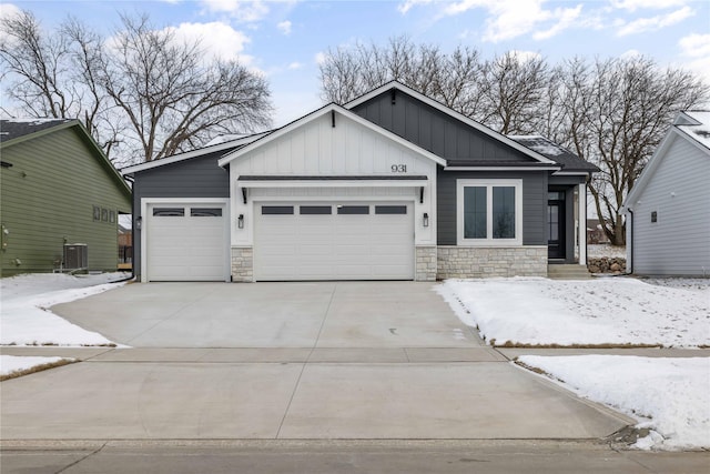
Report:
M146 218L148 280L226 280L224 204L152 204Z

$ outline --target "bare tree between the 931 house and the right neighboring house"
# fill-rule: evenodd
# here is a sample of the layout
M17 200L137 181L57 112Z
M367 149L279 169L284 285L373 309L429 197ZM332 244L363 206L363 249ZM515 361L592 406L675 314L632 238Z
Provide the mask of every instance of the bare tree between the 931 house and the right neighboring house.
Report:
M567 129L560 141L601 169L589 191L605 233L612 244L623 245L626 195L673 117L706 101L709 89L689 72L661 70L642 57L568 65L567 94L560 101Z

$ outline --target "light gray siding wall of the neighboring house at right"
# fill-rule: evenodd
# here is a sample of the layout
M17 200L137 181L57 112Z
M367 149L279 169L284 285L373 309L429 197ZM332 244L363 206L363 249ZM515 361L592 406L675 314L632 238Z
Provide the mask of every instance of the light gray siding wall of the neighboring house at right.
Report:
M676 137L633 209L633 273L710 274L710 151ZM657 222L651 222L651 213Z

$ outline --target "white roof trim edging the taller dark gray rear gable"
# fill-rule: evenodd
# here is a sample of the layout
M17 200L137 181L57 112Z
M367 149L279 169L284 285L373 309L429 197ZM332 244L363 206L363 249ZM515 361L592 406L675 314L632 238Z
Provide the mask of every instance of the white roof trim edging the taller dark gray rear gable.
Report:
M463 113L459 113L457 111L455 111L454 109L450 109L446 105L444 105L443 103L427 97L424 95L420 92L415 91L414 89L403 84L402 82L398 81L389 81L381 87L378 87L377 89L374 89L369 92L367 92L364 95L361 95L356 99L353 99L352 101L347 102L346 104L344 104L344 107L346 109L353 109L354 107L359 105L363 102L367 102L368 100L384 93L390 90L398 90L402 91L424 103L426 103L427 105L454 118L455 120L458 120L459 122L463 122L465 124L467 124L468 127L471 127L473 129L495 139L498 140L499 142L503 142L505 144L507 144L508 147L524 153L525 155L531 158L532 160L539 162L539 163L545 163L545 164L551 164L551 165L556 165L558 164L555 160L550 160L549 158L545 157L541 153L538 153L535 150L530 150L529 148L518 143L517 141L504 135L503 133L498 133L496 131L494 131L493 129L489 129L488 127L484 125L483 123L479 123L466 115L464 115Z

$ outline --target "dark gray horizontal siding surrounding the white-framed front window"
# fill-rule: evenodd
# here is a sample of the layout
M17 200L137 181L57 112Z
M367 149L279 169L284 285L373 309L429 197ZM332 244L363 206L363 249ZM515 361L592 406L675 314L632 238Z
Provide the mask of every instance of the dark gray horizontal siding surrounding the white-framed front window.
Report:
M523 179L523 244L547 245L547 173L500 173L439 170L437 174L437 244L456 245L456 180Z

